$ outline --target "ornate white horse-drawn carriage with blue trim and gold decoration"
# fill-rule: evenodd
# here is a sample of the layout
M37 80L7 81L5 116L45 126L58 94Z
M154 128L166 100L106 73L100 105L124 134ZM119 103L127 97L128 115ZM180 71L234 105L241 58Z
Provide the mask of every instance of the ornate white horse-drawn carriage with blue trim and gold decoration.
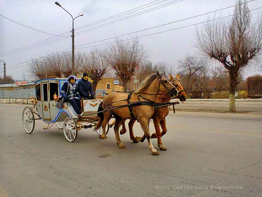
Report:
M76 83L80 79L77 79ZM35 127L35 120L43 120L47 123L49 129L56 124L59 129L63 129L64 136L69 142L76 140L77 133L82 128L92 128L98 121L97 110L103 98L84 100L81 99L81 111L78 115L73 109L71 103L64 102L62 108L56 107L58 95L60 94L63 83L66 78L42 78L35 81L35 97L31 98L33 107L25 107L22 114L23 128L27 133L32 133ZM107 125L109 128L114 124ZM96 130L102 135L99 130Z

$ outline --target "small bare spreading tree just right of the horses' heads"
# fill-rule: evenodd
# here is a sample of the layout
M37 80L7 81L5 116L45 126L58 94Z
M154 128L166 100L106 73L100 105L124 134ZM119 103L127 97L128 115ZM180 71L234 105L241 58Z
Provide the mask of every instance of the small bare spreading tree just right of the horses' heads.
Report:
M207 61L198 59L194 55L186 54L186 56L178 60L180 73L186 77L186 90L192 90L192 77L198 72L203 72L207 69Z

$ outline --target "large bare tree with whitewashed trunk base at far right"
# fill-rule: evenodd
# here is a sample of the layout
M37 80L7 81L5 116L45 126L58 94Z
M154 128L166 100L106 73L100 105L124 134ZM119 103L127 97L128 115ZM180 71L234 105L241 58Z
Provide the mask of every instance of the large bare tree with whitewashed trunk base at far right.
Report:
M230 111L235 112L235 90L239 70L261 60L262 22L251 22L246 1L239 0L231 20L213 20L196 29L196 48L205 56L219 61L230 75Z

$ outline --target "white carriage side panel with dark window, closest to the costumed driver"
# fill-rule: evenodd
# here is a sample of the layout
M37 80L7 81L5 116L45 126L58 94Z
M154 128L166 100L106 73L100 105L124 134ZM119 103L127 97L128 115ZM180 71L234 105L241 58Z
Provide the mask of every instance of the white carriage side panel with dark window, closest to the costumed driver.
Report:
M54 120L59 109L55 107L56 101L54 100L54 95L59 97L59 90L58 90L58 81L51 81L49 80L49 97L50 97L50 113L51 119Z

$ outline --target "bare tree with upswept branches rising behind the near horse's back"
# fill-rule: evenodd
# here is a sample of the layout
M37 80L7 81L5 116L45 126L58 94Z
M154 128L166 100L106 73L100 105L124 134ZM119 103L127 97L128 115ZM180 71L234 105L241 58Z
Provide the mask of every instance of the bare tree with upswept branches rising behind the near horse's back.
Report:
M124 90L127 91L127 83L134 75L137 67L145 60L145 51L137 38L132 41L119 39L116 39L116 41L110 47L109 65L115 70L116 75L121 78Z

